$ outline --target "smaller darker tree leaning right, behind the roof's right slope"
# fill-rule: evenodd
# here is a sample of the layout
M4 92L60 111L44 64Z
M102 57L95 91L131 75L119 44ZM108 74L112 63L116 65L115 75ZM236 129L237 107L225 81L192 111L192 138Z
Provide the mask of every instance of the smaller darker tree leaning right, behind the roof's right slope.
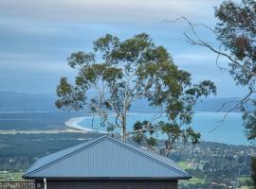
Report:
M193 86L191 86L191 83L188 86L182 86L182 93L167 103L165 112L167 113L168 122L159 121L154 125L147 121L137 122L134 126L136 141L140 143L143 139L147 140L148 136L152 138L155 131L159 131L166 139L165 147L160 150L161 154L166 157L170 155L177 141L184 143L190 141L193 145L197 144L201 135L190 127L194 113L192 108L200 97L215 93L216 87L209 80ZM145 126L150 126L153 129L147 130Z

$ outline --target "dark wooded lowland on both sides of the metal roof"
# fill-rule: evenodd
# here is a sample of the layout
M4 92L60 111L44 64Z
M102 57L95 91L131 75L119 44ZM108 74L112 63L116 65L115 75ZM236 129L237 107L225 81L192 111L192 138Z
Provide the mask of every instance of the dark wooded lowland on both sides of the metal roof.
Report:
M98 136L98 133L0 134L0 180L21 180L22 173L38 158ZM136 145L132 138L127 140ZM161 146L164 142L157 141L157 144ZM160 148L155 149L159 152ZM249 164L253 152L253 146L177 143L171 158L193 177L181 181L180 188L225 188L224 185L233 186L234 180L239 188L250 184Z

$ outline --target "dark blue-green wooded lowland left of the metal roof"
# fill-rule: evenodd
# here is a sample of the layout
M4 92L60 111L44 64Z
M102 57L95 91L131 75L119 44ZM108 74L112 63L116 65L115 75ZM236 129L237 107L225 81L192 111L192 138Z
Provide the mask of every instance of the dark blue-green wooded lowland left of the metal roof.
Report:
M24 171L38 158L89 140L93 134L0 134L0 171ZM81 140L82 141L81 141Z

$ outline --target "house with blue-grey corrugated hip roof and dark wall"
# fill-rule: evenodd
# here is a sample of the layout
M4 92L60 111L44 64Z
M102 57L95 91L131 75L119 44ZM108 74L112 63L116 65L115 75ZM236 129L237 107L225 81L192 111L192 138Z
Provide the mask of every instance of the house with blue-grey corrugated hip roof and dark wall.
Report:
M170 159L102 136L38 160L23 178L37 189L176 189L191 176Z

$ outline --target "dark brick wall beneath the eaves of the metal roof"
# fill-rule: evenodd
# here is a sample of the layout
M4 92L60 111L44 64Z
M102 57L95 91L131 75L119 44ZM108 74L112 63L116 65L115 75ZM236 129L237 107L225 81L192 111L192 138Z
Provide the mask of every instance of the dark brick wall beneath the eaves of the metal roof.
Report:
M44 189L43 180L36 189ZM177 189L177 180L47 180L47 189Z

